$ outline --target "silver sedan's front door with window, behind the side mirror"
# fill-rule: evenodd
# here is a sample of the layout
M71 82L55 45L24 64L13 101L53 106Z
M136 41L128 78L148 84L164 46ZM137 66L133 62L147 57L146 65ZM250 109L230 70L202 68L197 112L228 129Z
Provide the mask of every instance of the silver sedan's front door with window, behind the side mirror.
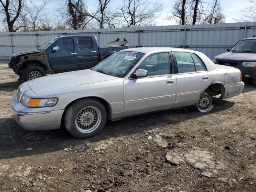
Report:
M148 76L124 78L124 116L172 108L176 76L172 74L170 54L151 54L137 69L147 70Z

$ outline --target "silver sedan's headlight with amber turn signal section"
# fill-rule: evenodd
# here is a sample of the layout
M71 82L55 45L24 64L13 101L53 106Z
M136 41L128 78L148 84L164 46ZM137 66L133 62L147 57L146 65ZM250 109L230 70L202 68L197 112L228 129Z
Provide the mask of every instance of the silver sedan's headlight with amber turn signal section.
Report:
M58 100L58 98L34 99L25 94L21 98L21 102L27 107L52 107L57 104Z

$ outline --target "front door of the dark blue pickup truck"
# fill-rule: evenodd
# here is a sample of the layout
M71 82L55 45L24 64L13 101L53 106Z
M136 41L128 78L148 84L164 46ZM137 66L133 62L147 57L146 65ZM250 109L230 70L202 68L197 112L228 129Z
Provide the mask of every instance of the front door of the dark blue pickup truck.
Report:
M53 48L58 47L54 51ZM72 70L76 66L77 56L74 38L63 38L55 42L49 50L50 66L55 71Z

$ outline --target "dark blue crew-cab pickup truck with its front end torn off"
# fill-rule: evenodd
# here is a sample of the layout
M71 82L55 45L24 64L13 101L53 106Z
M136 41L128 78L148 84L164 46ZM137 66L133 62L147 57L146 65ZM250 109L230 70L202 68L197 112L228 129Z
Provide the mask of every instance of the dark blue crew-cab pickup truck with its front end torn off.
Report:
M99 46L93 35L59 36L46 42L38 50L21 52L10 56L8 66L20 80L95 66L111 54L129 48L127 40L112 41Z

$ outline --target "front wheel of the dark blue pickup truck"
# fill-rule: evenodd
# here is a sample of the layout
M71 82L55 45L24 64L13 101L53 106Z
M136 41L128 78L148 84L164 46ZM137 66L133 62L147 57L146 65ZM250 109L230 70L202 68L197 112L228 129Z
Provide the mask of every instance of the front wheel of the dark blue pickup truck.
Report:
M24 81L32 80L35 78L46 76L45 70L40 66L28 66L22 73Z

